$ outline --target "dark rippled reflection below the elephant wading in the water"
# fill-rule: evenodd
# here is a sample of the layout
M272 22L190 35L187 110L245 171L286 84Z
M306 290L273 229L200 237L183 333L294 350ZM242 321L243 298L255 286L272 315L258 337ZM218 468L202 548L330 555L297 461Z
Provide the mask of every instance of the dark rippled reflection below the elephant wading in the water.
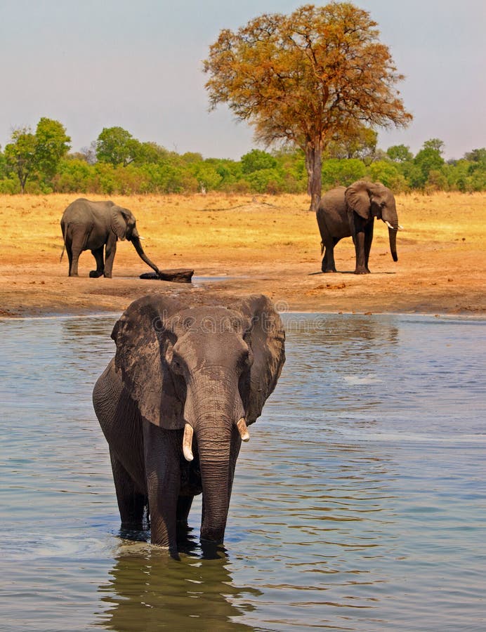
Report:
M247 595L254 600L262 593L232 584L225 555L203 563L185 556L174 564L162 551L147 551L142 544L131 544L131 550L136 546L143 550L119 555L107 584L98 588L105 604L105 628L151 632L163 621L171 630L254 629L238 618L251 608Z

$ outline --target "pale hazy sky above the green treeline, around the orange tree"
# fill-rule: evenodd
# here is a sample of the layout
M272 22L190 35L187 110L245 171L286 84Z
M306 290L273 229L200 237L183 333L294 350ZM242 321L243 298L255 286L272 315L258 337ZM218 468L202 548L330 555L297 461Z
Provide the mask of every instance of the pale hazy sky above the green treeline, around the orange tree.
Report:
M208 112L202 60L223 28L291 0L0 0L0 145L14 127L61 121L72 150L119 125L180 153L239 159L255 147L226 107ZM325 3L314 3L316 5ZM486 2L356 0L406 75L414 122L379 146L417 152L440 138L446 157L486 146Z

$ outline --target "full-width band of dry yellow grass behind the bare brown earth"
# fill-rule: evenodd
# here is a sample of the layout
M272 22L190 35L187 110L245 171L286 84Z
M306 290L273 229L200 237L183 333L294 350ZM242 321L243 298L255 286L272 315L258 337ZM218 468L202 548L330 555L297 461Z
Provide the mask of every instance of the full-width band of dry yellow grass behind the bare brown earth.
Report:
M25 262L55 261L63 248L60 217L76 197L0 196L0 263L19 256ZM274 257L296 263L319 256L320 237L305 195L136 195L117 196L114 201L133 211L146 238L147 254L161 260L162 267L175 257L183 258L185 264L213 264L236 259L264 263ZM479 244L484 239L485 195L400 195L397 206L406 229L399 235L399 247L407 242L450 244L463 239ZM387 242L387 231L379 223L374 244ZM336 252L345 250L353 251L350 240L339 244ZM81 258L81 265L89 256ZM131 246L119 244L116 262L128 263L132 258L137 256Z

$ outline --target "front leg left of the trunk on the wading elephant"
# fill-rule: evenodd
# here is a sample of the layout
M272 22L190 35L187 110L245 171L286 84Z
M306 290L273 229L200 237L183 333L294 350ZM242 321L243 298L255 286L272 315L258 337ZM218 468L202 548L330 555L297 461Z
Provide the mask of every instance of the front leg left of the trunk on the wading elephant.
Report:
M182 435L176 430L163 430L144 420L143 445L150 507L150 539L152 544L176 553Z

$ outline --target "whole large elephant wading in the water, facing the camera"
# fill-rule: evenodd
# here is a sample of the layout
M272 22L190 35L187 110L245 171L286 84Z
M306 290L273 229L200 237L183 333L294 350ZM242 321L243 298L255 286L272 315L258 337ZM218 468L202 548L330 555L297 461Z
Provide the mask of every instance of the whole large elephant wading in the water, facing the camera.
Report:
M148 506L152 543L171 553L195 494L203 496L202 541L223 541L248 438L237 423L260 416L284 364L284 329L266 296L191 300L134 301L114 326L117 351L93 390L122 527L139 529ZM185 428L194 436L183 450Z

